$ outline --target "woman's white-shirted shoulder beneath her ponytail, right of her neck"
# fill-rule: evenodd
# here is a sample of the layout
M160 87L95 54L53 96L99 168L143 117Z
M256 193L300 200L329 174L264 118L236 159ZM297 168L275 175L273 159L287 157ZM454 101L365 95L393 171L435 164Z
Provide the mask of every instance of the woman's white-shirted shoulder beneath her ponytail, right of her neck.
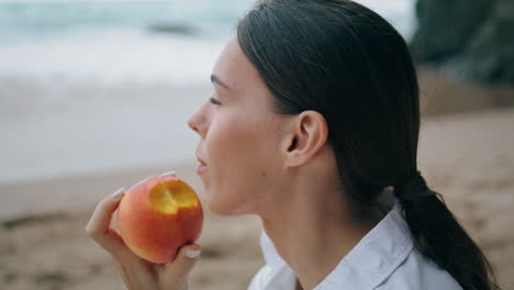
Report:
M400 204L351 249L315 290L461 290L413 245Z

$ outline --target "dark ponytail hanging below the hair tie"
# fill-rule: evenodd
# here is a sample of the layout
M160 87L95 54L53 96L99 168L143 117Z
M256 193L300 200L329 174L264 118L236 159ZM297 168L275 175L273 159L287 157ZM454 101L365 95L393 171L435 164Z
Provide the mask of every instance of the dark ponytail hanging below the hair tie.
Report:
M443 197L427 187L420 171L406 183L394 187L394 194L403 208L414 245L424 256L447 270L466 290L500 289L483 253L448 210Z

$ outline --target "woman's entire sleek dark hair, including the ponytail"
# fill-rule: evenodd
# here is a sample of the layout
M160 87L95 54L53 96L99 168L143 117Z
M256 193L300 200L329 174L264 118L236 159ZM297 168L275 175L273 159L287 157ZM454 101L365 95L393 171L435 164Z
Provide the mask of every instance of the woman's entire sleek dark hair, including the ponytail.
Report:
M237 25L241 48L281 114L320 112L350 197L394 186L416 248L463 289L498 289L480 248L417 169L420 98L407 45L354 1L260 1Z

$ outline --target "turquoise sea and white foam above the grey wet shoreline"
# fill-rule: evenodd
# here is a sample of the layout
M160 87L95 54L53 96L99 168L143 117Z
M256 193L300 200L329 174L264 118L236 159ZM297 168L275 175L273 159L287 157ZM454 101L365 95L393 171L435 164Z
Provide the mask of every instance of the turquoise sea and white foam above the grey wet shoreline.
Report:
M191 86L253 0L0 0L0 77ZM413 0L360 0L409 37Z

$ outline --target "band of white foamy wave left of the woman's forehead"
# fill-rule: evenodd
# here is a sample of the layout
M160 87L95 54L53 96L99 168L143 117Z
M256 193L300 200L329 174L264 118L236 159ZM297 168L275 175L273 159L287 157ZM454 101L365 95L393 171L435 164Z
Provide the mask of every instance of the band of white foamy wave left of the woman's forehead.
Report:
M204 83L225 38L112 30L0 47L0 77Z

